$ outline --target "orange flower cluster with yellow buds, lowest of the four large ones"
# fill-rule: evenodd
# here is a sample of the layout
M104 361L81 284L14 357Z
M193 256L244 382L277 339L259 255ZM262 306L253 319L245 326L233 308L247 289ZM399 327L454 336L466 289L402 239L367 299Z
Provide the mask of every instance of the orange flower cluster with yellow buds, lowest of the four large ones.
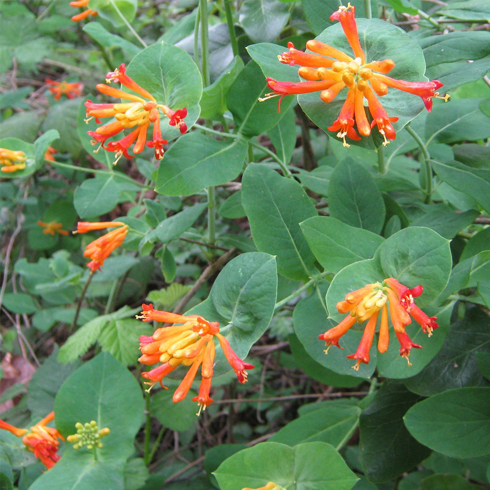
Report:
M183 400L189 392L192 382L196 377L197 370L201 368L201 383L199 393L193 398L197 401L199 411L205 410L213 399L209 396L211 390L211 379L213 377L213 364L216 347L214 338L223 349L226 360L234 369L240 383L246 383L246 369L253 369L251 364L240 359L230 343L220 334L220 324L217 321L207 321L198 315L177 315L167 311L154 310L153 305L142 305L142 312L136 318L143 321L161 321L165 323L182 323L169 327L157 328L152 336L142 335L140 337L140 350L142 356L138 361L151 366L158 362L163 363L157 368L144 372L142 376L150 381L150 388L157 382L162 384L162 379L172 372L177 366L188 366L189 370L184 376L179 387L173 393L172 400L178 402Z

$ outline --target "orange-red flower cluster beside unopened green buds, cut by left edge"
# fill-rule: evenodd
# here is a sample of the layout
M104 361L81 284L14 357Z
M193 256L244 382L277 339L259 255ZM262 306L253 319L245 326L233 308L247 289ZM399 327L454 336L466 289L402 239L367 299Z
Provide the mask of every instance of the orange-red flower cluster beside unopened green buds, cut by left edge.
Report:
M28 429L19 429L0 420L0 429L8 430L14 436L22 437L25 447L33 452L34 456L49 469L60 459L58 455L58 439L63 440L63 436L56 429L47 426L53 419L54 412L51 412L36 425L32 426L30 431Z

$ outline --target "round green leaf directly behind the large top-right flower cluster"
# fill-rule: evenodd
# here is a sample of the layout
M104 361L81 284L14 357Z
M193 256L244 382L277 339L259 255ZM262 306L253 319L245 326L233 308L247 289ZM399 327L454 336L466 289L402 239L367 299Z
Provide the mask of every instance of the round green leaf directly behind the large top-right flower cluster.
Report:
M367 62L391 58L395 62L393 70L389 73L392 78L427 81L423 76L425 60L422 49L412 36L380 19L356 19L356 22ZM340 23L327 27L315 39L354 57ZM294 69L295 67L291 67L291 70ZM319 128L328 135L334 136L335 133L328 131L327 127L339 117L346 94L347 90L343 89L339 96L328 104L320 100L318 92L300 95L298 101L307 116ZM423 109L423 103L417 96L393 88L380 98L380 101L389 117L399 117L398 122L393 123L396 131L412 121ZM362 138L361 141L349 140L348 143L374 149L379 147L382 141L379 131L374 128L367 138Z

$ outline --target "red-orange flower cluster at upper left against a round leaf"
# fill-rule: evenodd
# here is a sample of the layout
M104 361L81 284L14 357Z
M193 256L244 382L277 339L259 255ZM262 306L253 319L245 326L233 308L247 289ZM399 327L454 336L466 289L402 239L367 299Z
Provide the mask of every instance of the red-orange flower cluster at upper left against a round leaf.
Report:
M131 145L134 144L134 154L141 153L146 145L154 148L155 158L161 160L164 153L163 146L167 144L167 140L162 139L160 111L169 118L171 126L178 127L180 132L184 134L187 131L187 125L184 122L184 118L187 116L187 109L183 107L173 111L165 104L157 104L156 99L147 90L140 87L132 78L126 75L124 64L114 72L107 73L105 81L107 83L121 83L138 95L128 94L103 83L97 85L97 89L101 94L130 100L130 102L109 104L97 104L91 100L85 102L85 107L87 108L86 123L92 118L96 118L97 123L100 123L99 118L110 117L116 119L112 123L98 127L95 131L88 131L88 134L93 138L91 141L92 145L99 144L94 153L97 153L100 147L115 152L115 165L123 155L126 158L133 158L127 152ZM147 141L148 128L151 124L153 124L153 134L151 140ZM123 132L124 129L131 129L131 132L118 141L106 143L109 138Z

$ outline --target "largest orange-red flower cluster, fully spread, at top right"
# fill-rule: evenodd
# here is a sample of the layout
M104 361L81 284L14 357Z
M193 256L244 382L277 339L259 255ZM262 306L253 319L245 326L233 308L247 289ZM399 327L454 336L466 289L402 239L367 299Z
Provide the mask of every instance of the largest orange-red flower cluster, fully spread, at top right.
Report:
M439 80L408 82L387 76L385 73L391 72L395 66L391 59L367 63L359 41L354 14L355 7L348 3L346 7L340 6L339 10L330 16L330 20L340 21L354 57L315 39L306 43L306 48L313 53L294 49L293 43L288 43L289 51L279 55L278 59L287 65L299 65L298 74L306 81L281 82L268 77L267 85L273 92L259 100L262 102L280 96L279 110L281 99L285 95L320 92L320 99L328 103L347 87L347 97L339 117L327 129L337 132L337 137L343 140L343 146L349 147L345 137L360 141L362 136L369 136L371 128L376 125L383 136L383 145L386 146L388 140L395 139L392 123L398 121L398 117L388 116L376 95L379 97L386 95L389 87L418 95L429 112L432 110L432 98L443 98L447 101L449 96L440 97L439 92L436 92L442 87ZM370 123L364 106L365 98L372 118ZM357 131L354 129L354 124Z

